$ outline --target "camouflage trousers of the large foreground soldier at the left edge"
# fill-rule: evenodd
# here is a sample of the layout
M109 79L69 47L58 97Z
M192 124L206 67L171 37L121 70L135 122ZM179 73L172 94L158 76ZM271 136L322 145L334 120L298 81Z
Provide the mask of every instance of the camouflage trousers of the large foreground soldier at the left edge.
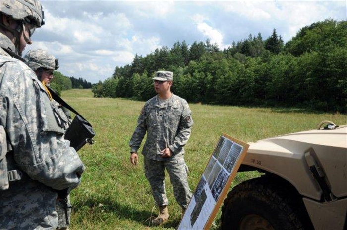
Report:
M0 229L55 229L56 199L56 192L37 181L10 182L8 190L0 191Z

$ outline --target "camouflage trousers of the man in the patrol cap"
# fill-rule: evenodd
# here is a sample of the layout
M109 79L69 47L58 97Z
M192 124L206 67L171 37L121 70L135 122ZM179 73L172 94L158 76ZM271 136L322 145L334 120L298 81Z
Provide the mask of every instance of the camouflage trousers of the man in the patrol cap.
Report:
M153 198L158 206L168 205L165 191L165 169L169 173L170 182L173 185L173 195L177 203L186 208L192 197L188 184L188 167L183 157L170 158L165 161L144 159L145 175L149 181Z

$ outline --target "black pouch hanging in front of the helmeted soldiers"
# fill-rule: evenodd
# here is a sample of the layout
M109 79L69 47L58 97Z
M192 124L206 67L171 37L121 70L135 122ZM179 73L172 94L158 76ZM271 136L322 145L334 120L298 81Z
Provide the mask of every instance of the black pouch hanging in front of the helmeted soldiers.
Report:
M76 151L85 144L93 144L92 138L95 136L92 125L83 117L76 115L69 128L65 132L65 139L69 140L70 146Z

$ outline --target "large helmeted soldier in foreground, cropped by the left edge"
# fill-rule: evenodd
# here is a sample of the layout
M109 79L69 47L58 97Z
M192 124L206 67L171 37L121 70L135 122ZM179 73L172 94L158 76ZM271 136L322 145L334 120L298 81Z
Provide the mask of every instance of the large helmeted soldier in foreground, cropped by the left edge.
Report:
M56 201L80 184L85 169L44 86L20 57L42 25L38 0L0 1L0 229L55 229Z

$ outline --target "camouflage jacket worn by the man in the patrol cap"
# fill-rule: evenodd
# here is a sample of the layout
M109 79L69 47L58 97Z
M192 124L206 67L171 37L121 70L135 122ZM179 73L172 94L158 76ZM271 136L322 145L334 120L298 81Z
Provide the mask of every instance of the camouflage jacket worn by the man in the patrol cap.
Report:
M149 159L163 161L160 151L170 148L173 156L184 154L193 125L191 110L186 100L172 94L160 103L158 96L148 100L138 118L137 127L130 139L131 152L137 152L147 131L142 154Z

